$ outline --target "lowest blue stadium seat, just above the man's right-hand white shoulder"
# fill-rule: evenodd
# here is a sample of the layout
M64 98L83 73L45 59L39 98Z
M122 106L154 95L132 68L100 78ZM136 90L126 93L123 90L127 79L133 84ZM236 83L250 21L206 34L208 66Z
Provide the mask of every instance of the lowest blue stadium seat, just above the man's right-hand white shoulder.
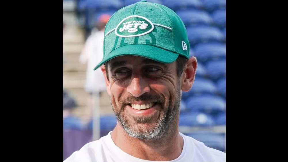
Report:
M214 148L216 150L224 151L225 150L225 137L219 133L213 132L200 132L200 133L190 133L186 134L194 138L195 140L202 142L206 146L210 148Z

